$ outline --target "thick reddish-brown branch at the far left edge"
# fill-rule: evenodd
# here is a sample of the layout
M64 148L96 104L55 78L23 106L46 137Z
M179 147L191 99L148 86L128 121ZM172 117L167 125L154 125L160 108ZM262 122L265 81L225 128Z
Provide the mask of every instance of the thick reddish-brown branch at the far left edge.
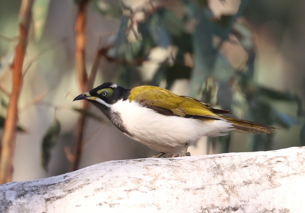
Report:
M9 104L1 138L0 184L11 182L13 176L13 159L16 146L18 98L22 87L22 65L28 43L32 5L34 0L22 0L19 12L19 42L15 48L15 56L11 66L13 86L9 95Z

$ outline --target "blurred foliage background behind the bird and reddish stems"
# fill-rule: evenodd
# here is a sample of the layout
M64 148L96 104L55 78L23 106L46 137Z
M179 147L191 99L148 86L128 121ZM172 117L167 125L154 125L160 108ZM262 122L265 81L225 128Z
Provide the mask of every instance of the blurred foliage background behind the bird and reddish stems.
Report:
M125 137L96 108L72 103L74 23L84 1L41 0L33 6L23 64L14 181L68 171L77 118L86 115L81 167L144 158L155 151ZM0 123L11 88L21 1L0 6ZM88 1L85 67L100 56L94 87L161 86L196 97L232 116L281 130L257 136L204 138L192 155L305 145L304 2L247 0Z

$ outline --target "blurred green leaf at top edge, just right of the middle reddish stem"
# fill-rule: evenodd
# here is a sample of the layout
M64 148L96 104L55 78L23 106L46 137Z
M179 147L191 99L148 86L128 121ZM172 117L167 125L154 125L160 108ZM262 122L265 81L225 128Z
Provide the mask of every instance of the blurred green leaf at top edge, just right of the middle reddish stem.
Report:
M111 1L93 0L91 3L104 16L120 19L123 15L122 7Z

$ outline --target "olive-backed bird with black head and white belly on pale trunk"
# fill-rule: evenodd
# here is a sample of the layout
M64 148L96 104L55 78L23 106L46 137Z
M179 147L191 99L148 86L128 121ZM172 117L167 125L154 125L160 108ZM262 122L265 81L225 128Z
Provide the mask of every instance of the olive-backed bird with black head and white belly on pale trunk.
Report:
M190 156L188 146L204 136L223 136L227 131L272 133L276 129L222 116L231 112L157 86L126 89L106 82L73 101L77 100L91 102L129 138L159 152L152 157Z

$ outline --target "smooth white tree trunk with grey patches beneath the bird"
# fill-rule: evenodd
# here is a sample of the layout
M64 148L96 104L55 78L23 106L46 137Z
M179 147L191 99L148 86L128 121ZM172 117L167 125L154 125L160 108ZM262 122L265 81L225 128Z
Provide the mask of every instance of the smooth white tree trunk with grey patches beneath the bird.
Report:
M305 147L99 163L0 185L0 212L304 212Z

